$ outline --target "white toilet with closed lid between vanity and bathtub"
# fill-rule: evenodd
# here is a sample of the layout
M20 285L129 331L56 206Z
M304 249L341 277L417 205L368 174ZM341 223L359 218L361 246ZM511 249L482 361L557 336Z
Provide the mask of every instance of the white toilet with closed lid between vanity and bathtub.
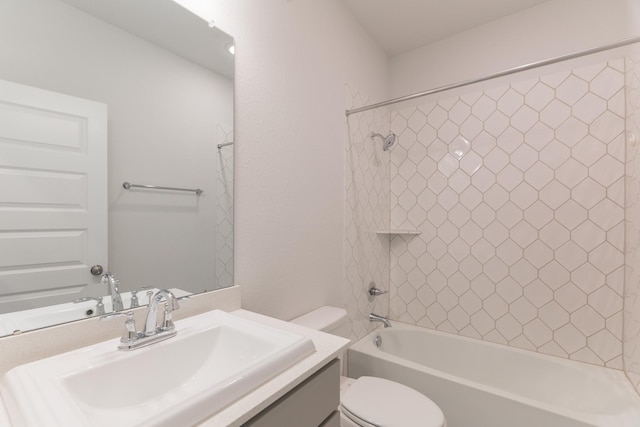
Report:
M347 312L320 307L291 320L300 326L348 338ZM428 397L377 377L340 378L341 427L446 427L444 414Z

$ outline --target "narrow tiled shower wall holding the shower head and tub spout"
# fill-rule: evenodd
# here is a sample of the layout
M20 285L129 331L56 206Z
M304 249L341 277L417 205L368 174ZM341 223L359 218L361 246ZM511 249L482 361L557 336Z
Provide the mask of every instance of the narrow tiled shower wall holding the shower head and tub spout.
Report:
M349 85L345 91L347 109L369 104ZM343 303L355 341L378 326L369 322L369 313L389 311L387 295L371 302L367 298L369 283L381 289L389 283L389 239L375 232L389 224L389 156L371 139L371 132L389 131L389 113L376 109L352 115L347 128Z

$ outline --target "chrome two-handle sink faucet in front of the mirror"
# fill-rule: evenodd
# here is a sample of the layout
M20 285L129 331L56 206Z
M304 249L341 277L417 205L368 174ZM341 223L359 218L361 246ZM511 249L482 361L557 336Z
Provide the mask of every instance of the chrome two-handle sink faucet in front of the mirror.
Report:
M163 300L166 301L164 317L162 318L162 323L158 325L158 305L161 304ZM120 338L118 349L135 350L175 336L178 331L176 331L176 327L173 324L172 313L174 310L179 308L178 299L175 295L167 289L162 289L156 292L149 301L149 308L143 331L138 332L136 330L133 311L128 313L108 314L100 319L109 320L115 317L125 316L127 318L127 321L125 322L126 330L124 335L122 335L122 338Z

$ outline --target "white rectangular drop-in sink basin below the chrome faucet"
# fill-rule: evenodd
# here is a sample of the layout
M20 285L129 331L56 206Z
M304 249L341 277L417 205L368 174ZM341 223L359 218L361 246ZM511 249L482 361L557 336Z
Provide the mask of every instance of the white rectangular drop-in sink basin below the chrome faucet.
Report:
M189 426L315 352L308 338L211 311L134 351L110 340L2 379L15 426Z

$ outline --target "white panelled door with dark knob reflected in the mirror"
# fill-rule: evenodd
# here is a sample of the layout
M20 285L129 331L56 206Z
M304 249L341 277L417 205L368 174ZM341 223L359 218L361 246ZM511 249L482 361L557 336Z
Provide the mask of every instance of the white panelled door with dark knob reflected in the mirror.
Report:
M0 313L95 294L96 264L107 266L107 106L0 80Z

